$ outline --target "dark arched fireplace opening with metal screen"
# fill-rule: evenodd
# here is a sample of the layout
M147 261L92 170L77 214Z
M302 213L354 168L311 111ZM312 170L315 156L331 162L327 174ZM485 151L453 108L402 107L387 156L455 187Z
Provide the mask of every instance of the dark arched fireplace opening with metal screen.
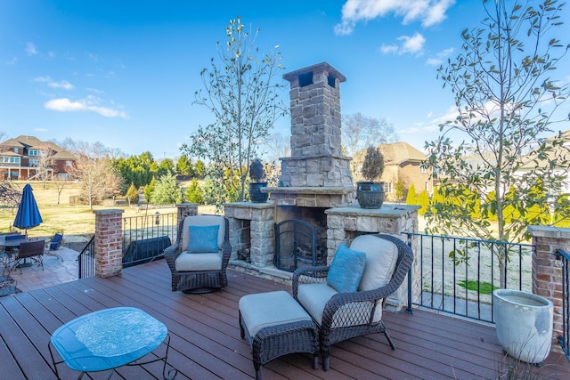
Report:
M303 266L326 265L327 229L289 219L275 224L273 264L281 271Z

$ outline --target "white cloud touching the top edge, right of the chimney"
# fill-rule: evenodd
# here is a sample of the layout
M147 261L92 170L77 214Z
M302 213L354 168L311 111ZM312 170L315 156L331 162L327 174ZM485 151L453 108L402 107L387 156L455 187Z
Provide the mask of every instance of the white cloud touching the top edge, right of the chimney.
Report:
M427 28L445 20L445 12L453 4L455 0L346 0L342 21L335 26L335 33L349 35L359 21L374 20L389 13L402 17L404 25L419 20Z

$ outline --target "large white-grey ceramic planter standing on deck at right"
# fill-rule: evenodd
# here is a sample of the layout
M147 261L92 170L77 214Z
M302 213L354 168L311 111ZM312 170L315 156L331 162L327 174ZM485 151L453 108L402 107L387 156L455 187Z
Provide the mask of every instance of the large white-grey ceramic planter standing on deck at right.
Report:
M552 344L553 305L532 293L510 289L493 291L497 338L505 352L527 363L541 363Z

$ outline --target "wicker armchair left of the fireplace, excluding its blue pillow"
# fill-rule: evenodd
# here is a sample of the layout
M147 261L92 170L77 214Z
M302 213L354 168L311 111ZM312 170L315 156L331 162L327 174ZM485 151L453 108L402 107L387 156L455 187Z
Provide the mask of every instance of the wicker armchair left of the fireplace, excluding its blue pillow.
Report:
M191 253L191 226L219 226L215 252ZM196 240L194 240L196 241ZM191 215L178 225L176 242L164 251L172 272L172 291L208 293L227 287L225 270L230 261L232 246L229 240L229 223L224 216Z

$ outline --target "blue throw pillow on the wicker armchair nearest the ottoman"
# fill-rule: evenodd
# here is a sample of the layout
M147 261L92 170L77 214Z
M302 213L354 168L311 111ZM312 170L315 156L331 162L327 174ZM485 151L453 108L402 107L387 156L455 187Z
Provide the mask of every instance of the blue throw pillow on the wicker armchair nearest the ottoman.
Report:
M338 293L355 292L362 279L365 265L365 253L340 245L330 263L327 284L334 287Z

